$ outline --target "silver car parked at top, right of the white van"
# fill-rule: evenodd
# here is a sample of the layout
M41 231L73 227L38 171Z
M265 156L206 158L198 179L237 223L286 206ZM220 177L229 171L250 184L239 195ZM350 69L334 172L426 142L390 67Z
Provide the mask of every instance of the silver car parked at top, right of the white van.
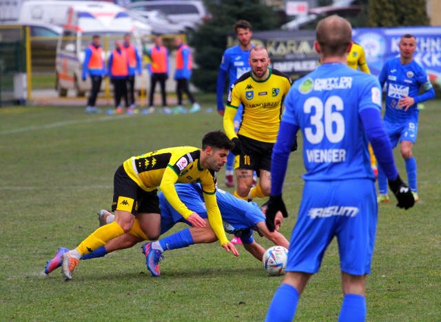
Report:
M203 21L210 19L201 0L152 0L137 1L127 5L127 9L146 12L159 10L174 23L189 23L189 28L197 28Z

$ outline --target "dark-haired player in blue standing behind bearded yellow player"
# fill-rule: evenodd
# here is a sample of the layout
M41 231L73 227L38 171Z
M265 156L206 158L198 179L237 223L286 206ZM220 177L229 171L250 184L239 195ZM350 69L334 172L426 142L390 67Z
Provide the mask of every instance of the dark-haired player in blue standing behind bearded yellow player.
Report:
M240 76L249 72L251 66L249 65L249 50L253 48L251 38L253 35L252 26L248 21L240 20L234 24L236 37L239 41L237 46L227 48L222 56L222 63L220 63L218 81L216 85L216 99L218 113L223 116L225 111L225 103L223 102L223 91L225 87L225 79L228 76L228 88ZM239 129L242 121L243 105L240 105L234 117L234 128L236 132ZM227 157L227 165L225 168L225 185L227 187L234 187L234 154L230 153Z

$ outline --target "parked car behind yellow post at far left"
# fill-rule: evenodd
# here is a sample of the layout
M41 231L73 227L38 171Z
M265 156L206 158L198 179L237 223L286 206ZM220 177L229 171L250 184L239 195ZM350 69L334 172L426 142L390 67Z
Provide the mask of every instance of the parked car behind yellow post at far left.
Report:
M8 26L12 29L10 29L9 32L6 32ZM14 21L7 25L1 25L3 29L1 40L17 41L18 39L21 39L21 31L17 34L17 32L13 32L14 28L19 28L21 30L27 26L30 30L32 71L52 72L54 70L57 40L61 32L63 32L63 28L50 23Z

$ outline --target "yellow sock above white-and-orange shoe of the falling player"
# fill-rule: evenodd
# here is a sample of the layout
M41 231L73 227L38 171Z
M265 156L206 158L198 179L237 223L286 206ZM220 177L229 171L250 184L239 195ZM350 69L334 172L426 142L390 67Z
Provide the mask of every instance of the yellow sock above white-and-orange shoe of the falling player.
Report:
M89 235L88 238L83 240L81 244L76 248L76 250L81 254L89 254L94 250L97 250L101 246L105 245L107 241L110 239L114 239L115 237L119 237L124 234L123 228L113 221L112 223L108 223L107 225L103 225L98 228L92 234Z

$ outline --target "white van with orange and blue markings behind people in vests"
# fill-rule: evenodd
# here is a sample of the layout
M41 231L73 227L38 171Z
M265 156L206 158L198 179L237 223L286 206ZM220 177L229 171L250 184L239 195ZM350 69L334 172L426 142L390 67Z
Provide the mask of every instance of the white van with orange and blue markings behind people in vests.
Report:
M89 2L89 1L88 1ZM123 40L126 33L132 34L132 43L142 55L141 41L133 34L132 19L119 6L110 8L100 3L92 2L71 6L68 10L67 23L63 26L63 34L57 43L56 76L59 96L65 97L68 90L74 90L74 95L81 97L90 90L89 77L81 79L85 49L92 42L92 36L101 36L103 59L107 66L107 58L114 49L116 40ZM105 87L105 82L101 90ZM147 89L147 71L135 79L135 90Z

